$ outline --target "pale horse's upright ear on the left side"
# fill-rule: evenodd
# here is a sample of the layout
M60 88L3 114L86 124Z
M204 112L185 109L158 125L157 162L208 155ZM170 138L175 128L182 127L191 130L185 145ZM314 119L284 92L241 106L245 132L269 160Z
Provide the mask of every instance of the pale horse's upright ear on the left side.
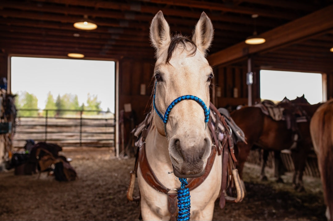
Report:
M159 11L152 20L152 24L150 25L150 40L152 46L156 49L156 53L169 45L171 41L170 27L162 11Z

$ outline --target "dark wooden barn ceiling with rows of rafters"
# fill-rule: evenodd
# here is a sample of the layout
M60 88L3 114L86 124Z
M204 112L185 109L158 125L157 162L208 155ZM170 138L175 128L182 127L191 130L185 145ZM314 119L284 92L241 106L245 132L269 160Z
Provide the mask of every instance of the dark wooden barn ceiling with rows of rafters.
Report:
M183 35L191 34L205 11L215 29L209 55L216 55L214 65L218 65L223 64L218 53L252 35L252 14L259 15L256 29L261 34L332 4L332 0L1 0L0 48L5 54L66 56L78 51L90 58L152 58L149 26L159 10L172 33ZM84 15L98 28L74 28L73 23ZM326 19L333 20L333 14ZM332 36L333 30L326 28L285 47L258 51L258 61L272 66L289 59L320 59L326 67L333 59Z

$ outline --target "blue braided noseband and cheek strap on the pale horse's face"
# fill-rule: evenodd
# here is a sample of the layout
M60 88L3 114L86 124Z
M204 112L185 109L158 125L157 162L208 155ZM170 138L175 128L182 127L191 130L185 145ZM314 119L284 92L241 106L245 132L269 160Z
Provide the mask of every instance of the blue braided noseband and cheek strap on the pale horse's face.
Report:
M157 86L157 82L155 83L155 90L154 90L154 98L153 98L153 106L154 109L156 111L156 113L159 115L159 117L163 120L164 123L164 131L166 133L166 122L167 119L169 117L169 113L172 110L172 108L179 102L183 101L183 100L193 100L196 101L203 109L203 113L205 114L205 129L207 127L207 122L209 120L209 113L210 113L210 109L207 108L207 106L205 105L205 103L198 97L193 96L193 95L184 95L184 96L180 96L176 99L173 100L173 102L171 102L171 104L167 107L166 112L164 114L164 116L162 115L162 113L157 109L156 105L155 105L155 95L156 95L156 86ZM167 136L167 133L166 133Z

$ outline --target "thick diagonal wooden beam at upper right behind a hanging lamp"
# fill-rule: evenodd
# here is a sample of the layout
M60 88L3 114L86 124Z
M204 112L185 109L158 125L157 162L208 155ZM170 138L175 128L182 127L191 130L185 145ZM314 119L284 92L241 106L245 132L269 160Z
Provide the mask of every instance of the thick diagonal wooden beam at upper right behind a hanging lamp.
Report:
M333 5L261 34L266 39L264 44L247 45L245 42L240 42L208 56L208 62L210 65L231 63L244 59L250 54L273 50L285 44L330 30L333 28L333 19L327 18L330 18L332 14Z

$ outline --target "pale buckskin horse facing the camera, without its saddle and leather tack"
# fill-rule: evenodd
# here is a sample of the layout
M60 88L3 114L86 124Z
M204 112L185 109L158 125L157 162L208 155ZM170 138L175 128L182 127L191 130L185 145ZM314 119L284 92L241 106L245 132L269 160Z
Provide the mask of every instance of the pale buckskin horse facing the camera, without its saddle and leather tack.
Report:
M181 178L204 174L212 151L212 139L205 123L207 109L203 108L203 103L209 105L210 102L213 73L205 56L213 39L213 26L202 12L191 39L182 35L171 37L169 29L159 11L150 26L150 40L156 53L152 102L155 111L145 149L155 178L172 192L183 185ZM200 98L201 106L192 99L181 100L175 105L176 99L183 95ZM166 110L165 118L162 110ZM167 202L173 198L153 188L148 182L155 178L143 174L141 163L138 166L143 220L172 220ZM221 156L216 155L207 178L190 193L191 220L212 219L214 202L221 189L221 170ZM144 176L149 176L149 181Z

